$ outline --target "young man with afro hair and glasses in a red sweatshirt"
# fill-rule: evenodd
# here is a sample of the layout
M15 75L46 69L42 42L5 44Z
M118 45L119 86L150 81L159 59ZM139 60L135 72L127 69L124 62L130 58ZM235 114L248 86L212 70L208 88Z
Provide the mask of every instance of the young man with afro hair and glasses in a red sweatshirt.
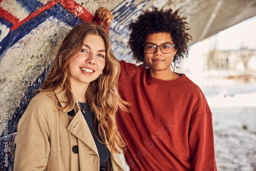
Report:
M130 25L129 47L143 62L120 61L119 93L130 113L119 113L118 126L131 170L217 170L207 101L186 75L172 71L187 56L185 19L155 8Z

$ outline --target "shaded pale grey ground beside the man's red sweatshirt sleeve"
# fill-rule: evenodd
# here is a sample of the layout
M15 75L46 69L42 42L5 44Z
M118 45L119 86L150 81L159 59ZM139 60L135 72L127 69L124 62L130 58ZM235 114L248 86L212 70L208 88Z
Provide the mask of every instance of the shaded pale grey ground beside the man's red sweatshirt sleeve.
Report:
M256 93L253 99L252 94L242 97L237 100L256 103ZM218 170L256 170L256 106L211 108L211 112Z

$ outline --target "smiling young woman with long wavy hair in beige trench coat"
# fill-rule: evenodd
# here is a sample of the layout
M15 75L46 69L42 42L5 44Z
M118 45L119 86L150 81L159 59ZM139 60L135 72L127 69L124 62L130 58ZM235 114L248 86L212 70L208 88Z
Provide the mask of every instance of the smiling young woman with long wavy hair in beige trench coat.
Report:
M14 170L124 170L119 72L108 33L88 23L73 28L18 123Z

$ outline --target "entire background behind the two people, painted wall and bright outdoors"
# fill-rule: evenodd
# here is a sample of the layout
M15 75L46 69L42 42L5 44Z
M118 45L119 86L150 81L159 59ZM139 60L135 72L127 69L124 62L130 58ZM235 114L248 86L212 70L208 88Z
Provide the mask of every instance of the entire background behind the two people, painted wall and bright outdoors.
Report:
M193 41L175 72L206 96L218 170L256 170L255 0L0 0L0 170L13 170L24 99L40 88L65 35L100 7L113 12L112 49L127 62L135 62L128 27L143 10L179 9L187 17Z

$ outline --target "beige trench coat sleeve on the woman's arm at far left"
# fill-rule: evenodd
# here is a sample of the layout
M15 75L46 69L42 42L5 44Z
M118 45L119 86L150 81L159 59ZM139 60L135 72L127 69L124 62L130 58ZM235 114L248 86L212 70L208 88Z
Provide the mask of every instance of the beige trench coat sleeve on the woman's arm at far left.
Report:
M49 122L47 103L35 96L18 123L14 171L46 168L50 153Z

